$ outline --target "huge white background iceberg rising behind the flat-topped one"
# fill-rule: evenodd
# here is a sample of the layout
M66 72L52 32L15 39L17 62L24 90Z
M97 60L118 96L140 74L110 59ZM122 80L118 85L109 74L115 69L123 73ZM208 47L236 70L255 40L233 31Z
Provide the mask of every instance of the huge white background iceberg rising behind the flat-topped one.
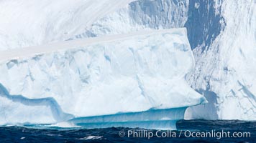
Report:
M1 1L1 57L32 52L12 56L4 54L6 49L16 53L25 46L186 27L196 63L186 82L209 101L187 109L186 119L255 120L255 6L254 0Z

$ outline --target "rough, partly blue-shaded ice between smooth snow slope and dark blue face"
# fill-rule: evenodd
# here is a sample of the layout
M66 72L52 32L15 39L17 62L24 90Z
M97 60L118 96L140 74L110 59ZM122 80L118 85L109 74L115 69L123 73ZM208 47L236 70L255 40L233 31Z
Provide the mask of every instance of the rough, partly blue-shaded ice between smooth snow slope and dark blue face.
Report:
M187 19L188 0L134 1L126 8L98 19L91 29L70 39L183 27Z

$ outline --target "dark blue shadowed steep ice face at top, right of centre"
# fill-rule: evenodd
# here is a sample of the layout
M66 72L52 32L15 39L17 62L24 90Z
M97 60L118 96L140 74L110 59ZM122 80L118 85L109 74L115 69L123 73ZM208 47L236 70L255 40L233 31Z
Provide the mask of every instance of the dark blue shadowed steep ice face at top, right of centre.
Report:
M221 1L193 0L189 1L188 9L188 40L192 49L200 46L197 50L201 54L224 29Z

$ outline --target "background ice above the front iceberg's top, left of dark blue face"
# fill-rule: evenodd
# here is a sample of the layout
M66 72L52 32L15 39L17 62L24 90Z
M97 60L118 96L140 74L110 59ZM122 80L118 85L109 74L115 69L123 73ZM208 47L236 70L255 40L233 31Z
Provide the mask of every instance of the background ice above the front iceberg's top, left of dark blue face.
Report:
M187 19L188 0L4 0L0 8L0 50L4 50L181 27Z

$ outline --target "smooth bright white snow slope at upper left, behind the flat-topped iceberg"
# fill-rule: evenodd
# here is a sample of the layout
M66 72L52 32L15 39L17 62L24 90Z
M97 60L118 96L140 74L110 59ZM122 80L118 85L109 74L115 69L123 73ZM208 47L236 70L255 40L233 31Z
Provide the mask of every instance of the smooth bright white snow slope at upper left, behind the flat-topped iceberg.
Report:
M0 1L0 50L64 41L131 1Z

